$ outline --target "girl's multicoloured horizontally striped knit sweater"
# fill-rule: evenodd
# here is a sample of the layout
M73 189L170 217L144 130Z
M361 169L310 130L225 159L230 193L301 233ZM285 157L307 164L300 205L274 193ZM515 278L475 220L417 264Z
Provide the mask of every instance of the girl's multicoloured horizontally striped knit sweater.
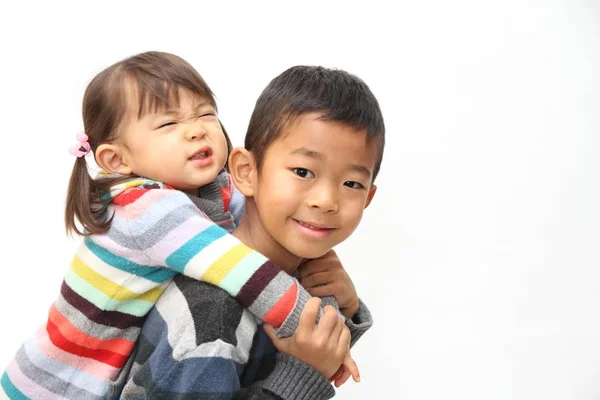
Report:
M233 227L220 174L220 223ZM228 189L229 188L229 189ZM206 189L206 188L204 188ZM177 274L216 285L289 336L310 295L199 209L201 199L156 181L112 188L110 229L83 240L45 325L0 378L11 399L102 399L131 355L148 312ZM204 199L205 200L205 199ZM213 210L214 211L214 210ZM219 213L211 217L217 218Z

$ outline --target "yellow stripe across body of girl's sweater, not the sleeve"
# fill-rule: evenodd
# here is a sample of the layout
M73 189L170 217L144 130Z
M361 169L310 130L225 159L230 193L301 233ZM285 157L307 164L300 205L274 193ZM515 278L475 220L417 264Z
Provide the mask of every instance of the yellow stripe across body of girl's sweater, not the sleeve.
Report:
M114 283L104 275L100 275L99 273L88 267L83 261L81 261L78 255L76 255L73 259L71 268L87 283L94 286L96 289L104 293L109 298L117 301L137 299L156 303L158 301L158 298L165 291L164 288L158 286L141 294L133 292L124 286L120 286Z

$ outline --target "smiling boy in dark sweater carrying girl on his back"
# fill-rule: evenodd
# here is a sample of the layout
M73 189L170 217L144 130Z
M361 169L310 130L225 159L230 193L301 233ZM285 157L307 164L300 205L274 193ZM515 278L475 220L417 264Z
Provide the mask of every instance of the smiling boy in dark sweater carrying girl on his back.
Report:
M259 97L245 148L229 158L246 197L234 236L289 274L341 243L375 194L384 134L359 78L322 67L283 72ZM331 398L328 379L372 324L356 303L344 325L330 306L317 322L320 301L311 299L295 334L279 339L221 289L178 276L146 320L121 398Z

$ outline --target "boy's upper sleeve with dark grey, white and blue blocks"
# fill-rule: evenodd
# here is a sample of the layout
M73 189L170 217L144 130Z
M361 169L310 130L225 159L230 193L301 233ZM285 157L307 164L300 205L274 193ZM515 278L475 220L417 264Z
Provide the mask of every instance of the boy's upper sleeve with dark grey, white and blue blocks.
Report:
M177 275L146 317L121 398L219 397L237 390L257 328L224 290Z

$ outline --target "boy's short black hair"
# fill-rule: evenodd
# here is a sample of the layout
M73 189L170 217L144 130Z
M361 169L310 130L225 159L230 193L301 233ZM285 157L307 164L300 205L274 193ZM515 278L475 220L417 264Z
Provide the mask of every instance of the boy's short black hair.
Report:
M378 156L373 181L381 167L385 124L377 99L367 84L339 69L299 65L273 79L256 101L244 146L252 152L260 171L268 147L299 116L323 111L321 119L367 130L367 143L375 140Z

